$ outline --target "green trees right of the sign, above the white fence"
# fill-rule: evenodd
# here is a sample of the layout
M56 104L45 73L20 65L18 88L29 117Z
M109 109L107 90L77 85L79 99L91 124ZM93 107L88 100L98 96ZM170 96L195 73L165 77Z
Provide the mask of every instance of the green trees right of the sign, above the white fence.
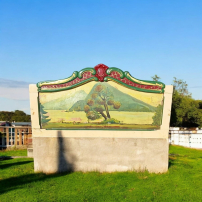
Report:
M154 81L160 77L154 75ZM195 100L188 91L188 84L182 79L173 79L171 127L202 127L202 100Z

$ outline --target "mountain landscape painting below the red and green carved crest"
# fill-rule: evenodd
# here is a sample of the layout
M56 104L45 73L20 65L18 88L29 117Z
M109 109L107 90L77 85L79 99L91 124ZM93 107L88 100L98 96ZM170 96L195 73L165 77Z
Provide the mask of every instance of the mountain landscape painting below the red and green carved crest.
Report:
M163 93L140 92L116 82L92 81L39 93L43 129L160 129Z

